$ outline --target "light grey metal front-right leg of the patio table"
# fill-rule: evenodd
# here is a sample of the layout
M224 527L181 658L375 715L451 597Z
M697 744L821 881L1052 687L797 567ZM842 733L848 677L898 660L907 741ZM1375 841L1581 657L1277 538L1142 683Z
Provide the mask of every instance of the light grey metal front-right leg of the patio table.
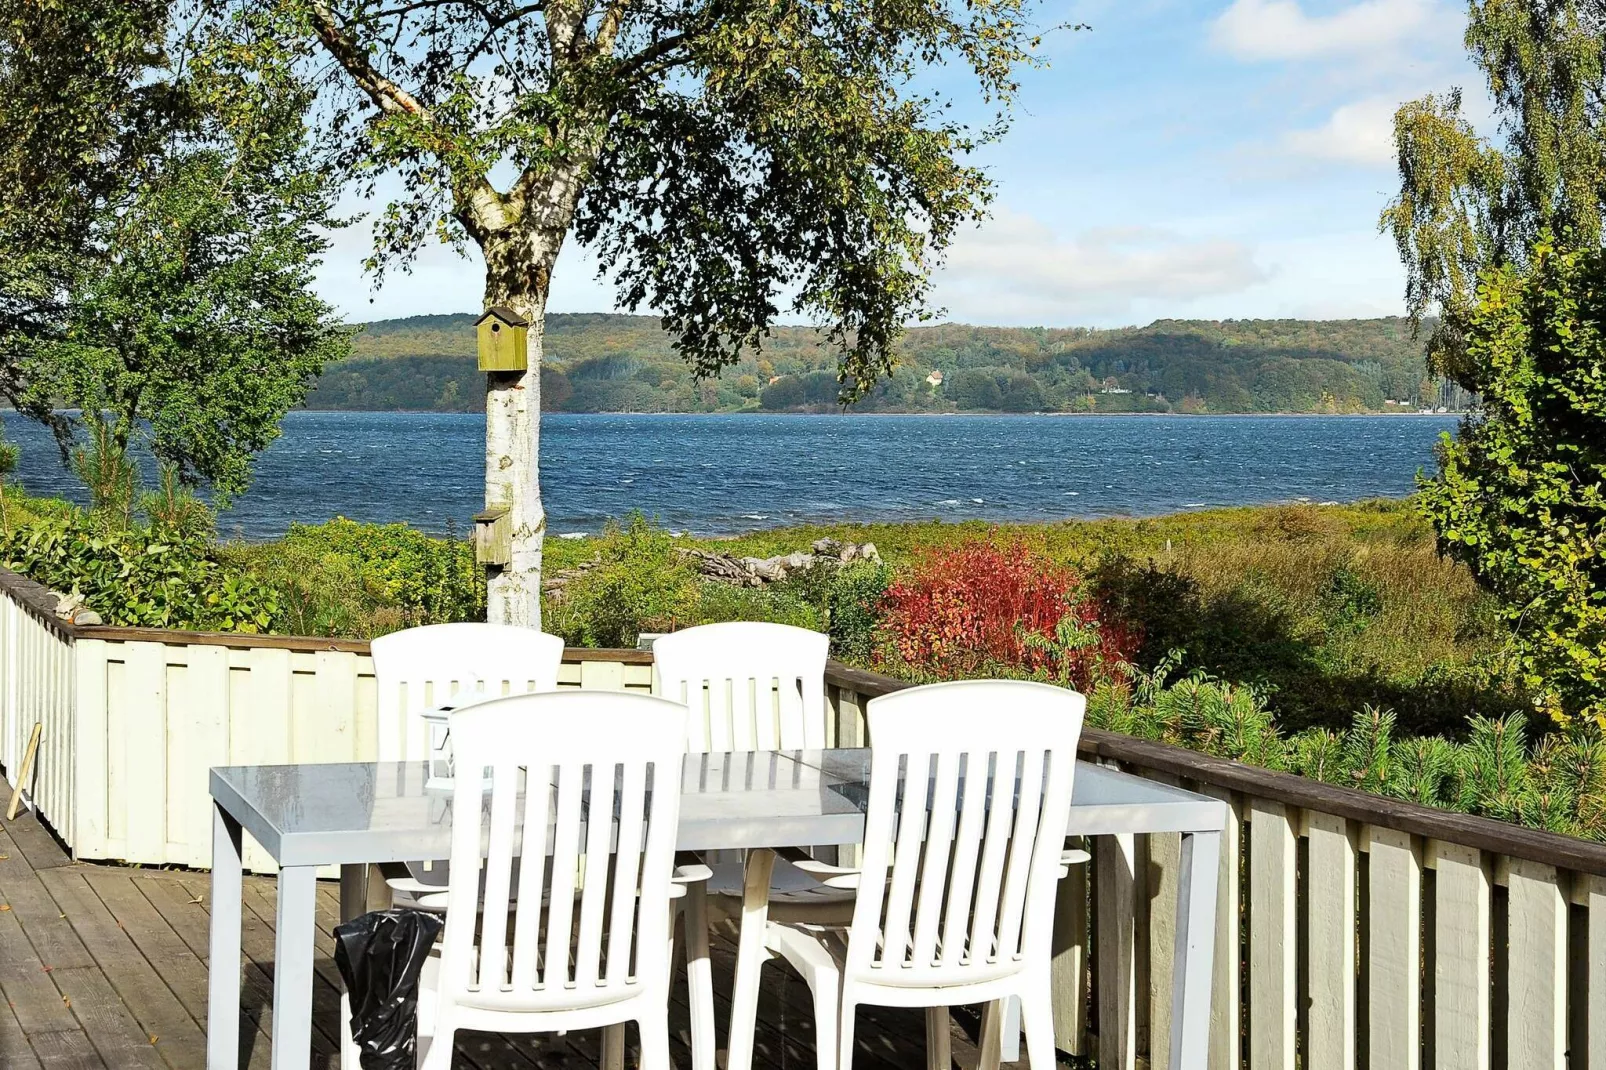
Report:
M1182 835L1176 966L1171 975L1171 1006L1176 1007L1171 1017L1171 1070L1203 1070L1208 1059L1219 866L1221 832Z

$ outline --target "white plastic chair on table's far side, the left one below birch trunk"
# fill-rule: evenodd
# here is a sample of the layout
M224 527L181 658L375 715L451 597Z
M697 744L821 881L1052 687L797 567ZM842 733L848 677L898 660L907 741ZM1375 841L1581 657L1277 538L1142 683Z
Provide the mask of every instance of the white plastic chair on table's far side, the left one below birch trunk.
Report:
M535 628L445 623L382 635L369 644L379 702L379 760L429 757L426 710L557 689L564 641ZM397 906L443 909L445 861L382 866Z

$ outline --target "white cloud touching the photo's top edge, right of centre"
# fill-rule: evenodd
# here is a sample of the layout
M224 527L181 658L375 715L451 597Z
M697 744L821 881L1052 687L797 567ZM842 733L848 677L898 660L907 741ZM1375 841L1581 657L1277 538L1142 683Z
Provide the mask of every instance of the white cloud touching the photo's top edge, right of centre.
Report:
M1211 42L1240 59L1368 55L1428 29L1436 6L1434 0L1362 0L1331 14L1307 14L1299 0L1233 0L1211 26Z

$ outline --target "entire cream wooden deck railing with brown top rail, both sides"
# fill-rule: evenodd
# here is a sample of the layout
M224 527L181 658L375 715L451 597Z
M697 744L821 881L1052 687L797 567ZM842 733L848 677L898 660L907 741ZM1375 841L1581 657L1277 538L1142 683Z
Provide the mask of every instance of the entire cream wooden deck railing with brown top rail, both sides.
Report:
M214 765L374 753L366 643L84 628L0 570L0 766L43 726L39 813L80 858L204 868ZM570 651L567 686L650 655ZM832 665L830 742L904 684ZM1087 729L1089 758L1224 798L1209 1065L1606 1070L1606 847ZM1062 885L1058 1044L1164 1065L1174 835L1105 837ZM267 860L251 855L254 866Z

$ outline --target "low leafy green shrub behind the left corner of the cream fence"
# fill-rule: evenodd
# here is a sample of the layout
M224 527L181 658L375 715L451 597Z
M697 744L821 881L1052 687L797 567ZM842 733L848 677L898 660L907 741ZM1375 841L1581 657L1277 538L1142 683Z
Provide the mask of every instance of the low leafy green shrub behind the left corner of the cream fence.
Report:
M82 513L8 532L0 553L6 569L75 591L111 625L271 631L279 615L271 588L220 564L204 541L108 532Z

